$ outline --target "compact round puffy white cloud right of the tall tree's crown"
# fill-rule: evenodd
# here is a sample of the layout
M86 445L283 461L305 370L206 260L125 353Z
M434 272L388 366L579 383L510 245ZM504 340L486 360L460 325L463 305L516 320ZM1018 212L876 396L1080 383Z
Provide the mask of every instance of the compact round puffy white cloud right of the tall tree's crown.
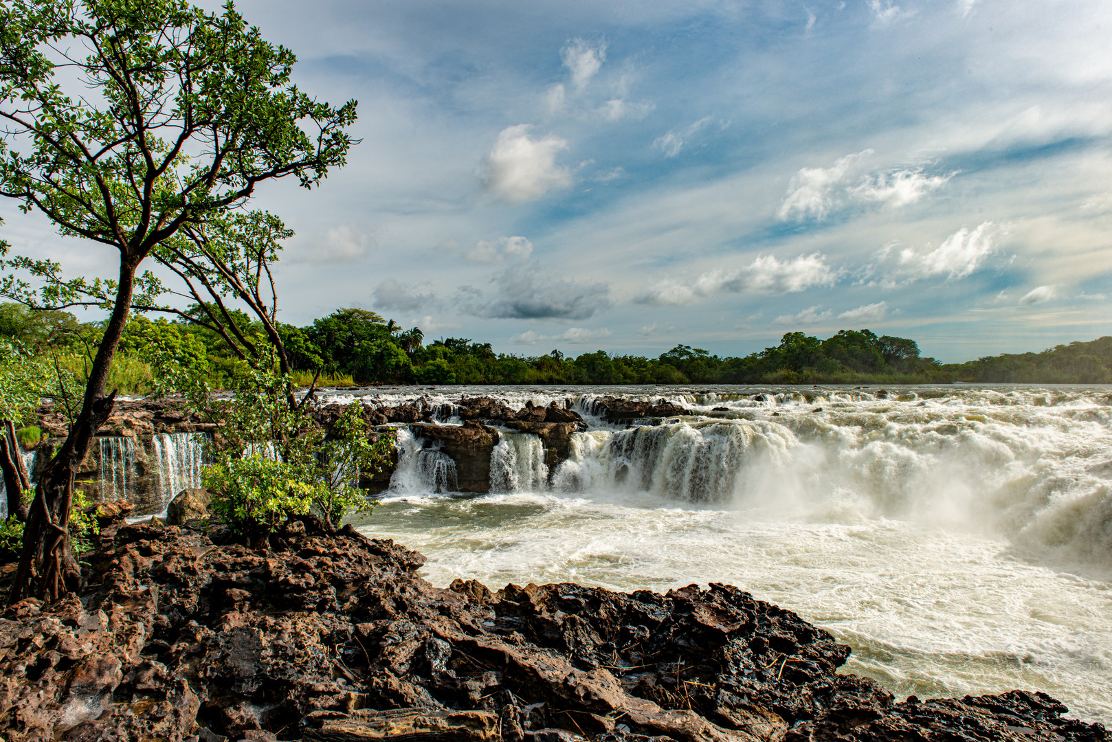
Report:
M572 185L572 171L556 165L567 141L554 135L534 139L529 128L519 123L503 129L479 172L487 190L510 204L535 201Z

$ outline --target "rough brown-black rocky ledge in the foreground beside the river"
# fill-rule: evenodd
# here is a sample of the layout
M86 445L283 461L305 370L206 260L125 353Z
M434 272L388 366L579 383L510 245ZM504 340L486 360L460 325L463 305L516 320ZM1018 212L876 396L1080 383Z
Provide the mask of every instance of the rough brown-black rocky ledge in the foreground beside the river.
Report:
M1104 740L1042 693L895 703L850 649L736 587L473 581L350 526L256 548L218 526L101 532L83 595L0 620L0 738L749 742Z

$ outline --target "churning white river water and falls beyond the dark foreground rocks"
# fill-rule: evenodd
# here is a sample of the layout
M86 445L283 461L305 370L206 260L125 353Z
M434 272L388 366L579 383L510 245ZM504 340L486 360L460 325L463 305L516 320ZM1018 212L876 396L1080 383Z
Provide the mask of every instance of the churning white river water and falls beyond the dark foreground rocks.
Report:
M451 494L443 455L410 439L365 528L424 552L436 584L732 583L834 633L854 649L846 669L897 696L1027 687L1109 723L1110 392L429 393L446 424L460 396L489 394L572 398L589 429L552 472L534 436L504 435L481 496ZM606 393L689 415L607 425L593 414Z

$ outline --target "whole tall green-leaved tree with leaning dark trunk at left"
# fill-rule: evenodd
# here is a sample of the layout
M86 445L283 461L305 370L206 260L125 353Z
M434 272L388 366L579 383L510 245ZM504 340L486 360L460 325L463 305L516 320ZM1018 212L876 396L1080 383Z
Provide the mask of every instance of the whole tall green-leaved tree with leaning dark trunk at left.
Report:
M108 313L80 413L41 475L10 600L76 590L72 481L111 412L106 377L133 306L160 293L139 273L160 246L202 229L259 182L309 188L342 165L355 101L338 108L291 81L294 53L261 38L229 2L13 0L0 7L0 195L67 237L102 246L116 277L71 278L51 260L16 257L0 294L42 309ZM91 93L89 91L92 91ZM111 265L107 264L106 265Z

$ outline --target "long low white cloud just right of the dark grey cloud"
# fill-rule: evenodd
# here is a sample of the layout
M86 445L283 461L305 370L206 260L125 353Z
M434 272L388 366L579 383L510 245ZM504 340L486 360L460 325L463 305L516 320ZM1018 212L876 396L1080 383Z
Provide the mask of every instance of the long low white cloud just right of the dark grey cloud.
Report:
M729 294L791 294L812 286L828 286L836 275L826 265L826 256L815 253L792 260L762 255L741 268L715 268L691 284L664 279L651 286L635 300L639 304L683 305L699 297Z

